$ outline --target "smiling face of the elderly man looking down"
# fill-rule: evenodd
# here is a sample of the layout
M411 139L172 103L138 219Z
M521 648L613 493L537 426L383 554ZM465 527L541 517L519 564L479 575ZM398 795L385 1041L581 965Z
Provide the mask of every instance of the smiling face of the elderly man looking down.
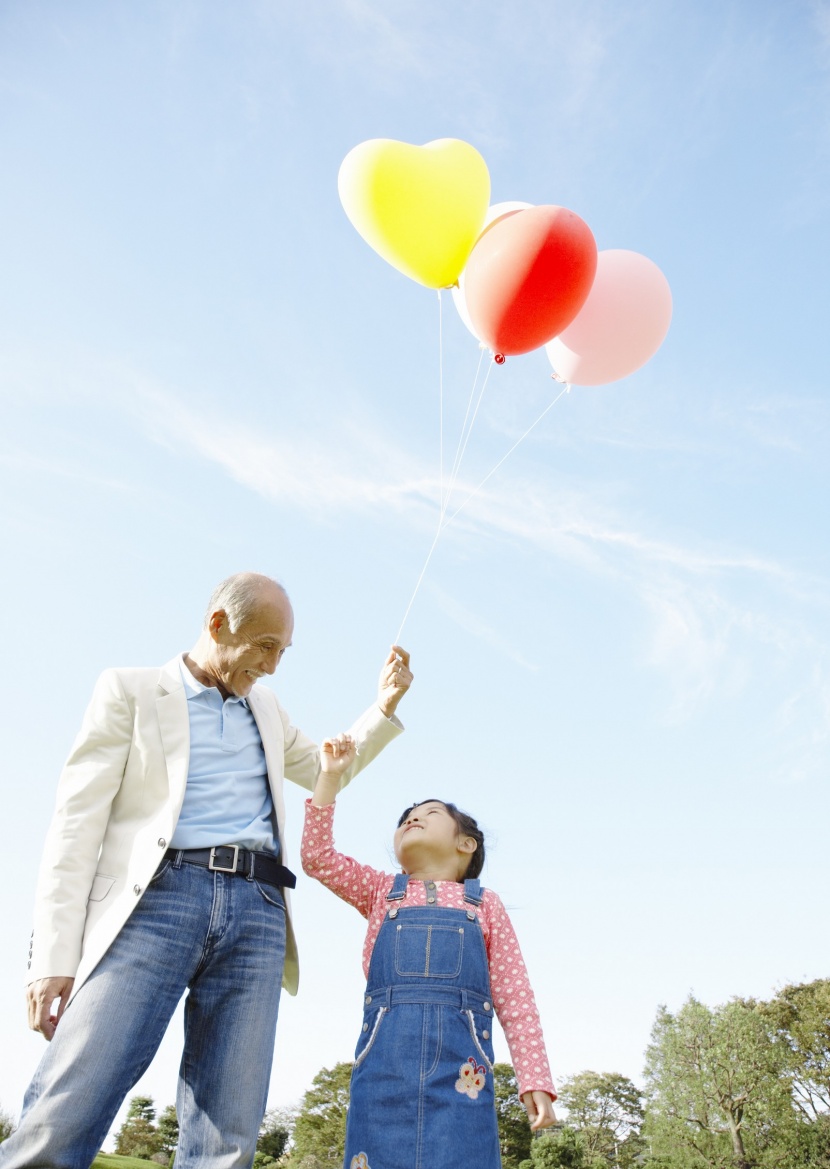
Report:
M223 690L245 698L263 673L274 673L293 635L293 611L277 588L263 589L253 616L231 634L223 610L209 623L210 657L205 664Z

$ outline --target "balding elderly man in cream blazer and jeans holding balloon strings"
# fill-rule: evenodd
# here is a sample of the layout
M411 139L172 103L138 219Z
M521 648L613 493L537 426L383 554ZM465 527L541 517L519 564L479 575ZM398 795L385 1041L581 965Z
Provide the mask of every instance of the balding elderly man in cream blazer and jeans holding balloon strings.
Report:
M186 990L177 1165L251 1164L281 984L296 994L298 978L283 776L313 789L319 772L318 748L256 686L292 630L282 586L241 573L189 653L98 680L37 886L29 1022L51 1043L2 1169L88 1169ZM402 729L410 682L394 646L344 782Z

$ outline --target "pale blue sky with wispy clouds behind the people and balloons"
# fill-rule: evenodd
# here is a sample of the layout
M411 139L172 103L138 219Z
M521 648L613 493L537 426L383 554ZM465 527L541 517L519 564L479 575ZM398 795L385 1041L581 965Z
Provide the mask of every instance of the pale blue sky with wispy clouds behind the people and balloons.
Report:
M622 9L0 6L5 1108L42 1049L19 989L34 869L98 672L167 660L217 580L271 573L297 628L268 684L323 736L371 700L421 570L437 297L339 205L374 137L472 143L493 201L648 255L675 316L442 537L403 636L407 734L341 801L340 842L388 865L411 798L479 817L560 1078L637 1079L690 990L828 974L830 5ZM449 442L479 354L448 295L443 334ZM491 373L459 492L555 392L544 352ZM296 905L272 1104L350 1058L359 1017L360 919L305 879ZM178 1042L141 1085L159 1105Z

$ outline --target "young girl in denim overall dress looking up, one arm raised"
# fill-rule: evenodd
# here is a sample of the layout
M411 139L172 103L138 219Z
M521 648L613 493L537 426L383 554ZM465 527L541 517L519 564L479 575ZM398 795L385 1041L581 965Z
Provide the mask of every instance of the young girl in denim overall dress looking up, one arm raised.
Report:
M455 804L427 800L399 821L399 876L337 852L334 797L354 752L348 735L324 742L303 832L305 872L368 919L345 1167L499 1169L493 1010L531 1128L555 1122L556 1093L513 927L477 879L484 837Z

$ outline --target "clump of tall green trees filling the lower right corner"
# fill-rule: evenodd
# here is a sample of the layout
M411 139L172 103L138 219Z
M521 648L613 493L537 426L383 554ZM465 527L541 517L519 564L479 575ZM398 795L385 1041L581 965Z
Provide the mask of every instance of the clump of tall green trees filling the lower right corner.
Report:
M828 980L769 1002L660 1008L645 1067L653 1163L829 1169L829 1073Z

